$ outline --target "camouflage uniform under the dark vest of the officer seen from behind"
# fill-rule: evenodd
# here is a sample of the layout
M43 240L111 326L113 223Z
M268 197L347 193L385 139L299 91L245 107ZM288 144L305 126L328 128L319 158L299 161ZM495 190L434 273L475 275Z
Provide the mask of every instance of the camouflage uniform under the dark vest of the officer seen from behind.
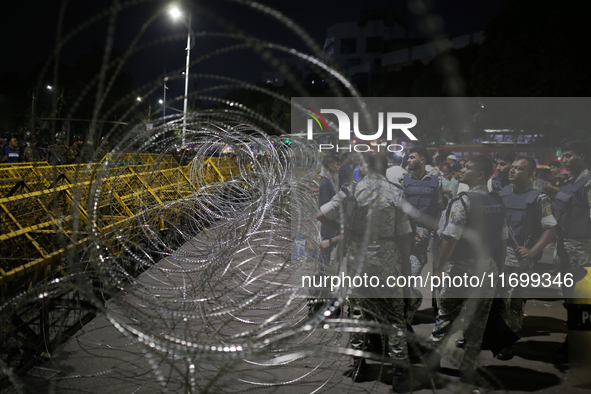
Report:
M487 187L481 185L470 189L470 192L488 194ZM451 204L449 208L449 221L442 233L444 236L456 240L460 239L466 226L468 215L470 214L470 200L466 195L462 195L460 198L463 199L465 205L459 200ZM504 218L500 238L501 240L508 238L507 222ZM493 273L493 281L497 277L497 265L492 257L482 259L452 258L450 260L445 268L445 272L451 277L456 275L461 276L464 273L467 273L469 276L475 275L479 278L482 277L483 273L485 273L487 278L490 273ZM469 371L474 368L474 362L480 353L480 344L495 293L494 287L491 287L490 284L474 290L479 292L476 294L478 298L466 299L466 292L468 290L465 288L446 286L441 288L439 311L435 320L435 326L429 337L429 341L433 344L441 344L441 349L444 349L451 335L454 322L456 323L456 327L453 327L454 329L463 329L466 342L462 371Z

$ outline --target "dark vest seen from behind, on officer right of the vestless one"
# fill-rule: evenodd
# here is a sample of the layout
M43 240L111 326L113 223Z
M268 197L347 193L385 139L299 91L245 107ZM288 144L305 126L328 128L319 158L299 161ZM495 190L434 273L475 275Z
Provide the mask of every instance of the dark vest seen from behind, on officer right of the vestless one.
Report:
M505 219L503 200L494 193L466 192L460 193L452 200L452 203L460 200L463 204L461 197L464 194L468 196L470 201L470 211L462 236L451 255L451 260L492 258L501 242L503 220ZM448 222L450 212L451 209L447 213ZM473 242L468 238L468 235L472 235L472 238L476 238L478 241Z

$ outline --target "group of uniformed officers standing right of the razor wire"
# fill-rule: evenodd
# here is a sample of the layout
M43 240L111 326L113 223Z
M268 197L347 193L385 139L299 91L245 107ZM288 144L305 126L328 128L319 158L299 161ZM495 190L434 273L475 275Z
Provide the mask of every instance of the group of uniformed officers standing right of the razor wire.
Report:
M334 268L345 261L348 272L355 272L361 262L381 275L421 275L431 248L434 276L531 275L544 248L555 244L560 272L573 274L576 283L591 267L589 152L581 141L566 143L562 151L562 163L551 163L551 177L545 180L537 178L533 158L511 151L498 152L494 160L487 155L467 160L439 152L432 156L422 146L405 156L327 155L317 190L322 266ZM563 165L566 177L560 175ZM342 248L332 253L331 262L335 245ZM562 290L568 309L572 289ZM393 327L384 335L354 333L350 347L374 352L383 346L394 366L392 387L404 392L412 387L407 338L421 302L411 288L389 291L388 298L359 290L350 294L350 318ZM493 302L505 326L518 334L528 298L518 284L474 291L478 294L466 295L443 283L428 346L421 348L421 361L436 370L452 331L462 330L464 339L456 343L464 349L460 375L470 383L478 377L475 361L495 311ZM517 339L488 349L499 360L510 360ZM567 343L568 338L557 349L557 362L568 362ZM363 353L358 354L351 377L363 381L367 367Z

